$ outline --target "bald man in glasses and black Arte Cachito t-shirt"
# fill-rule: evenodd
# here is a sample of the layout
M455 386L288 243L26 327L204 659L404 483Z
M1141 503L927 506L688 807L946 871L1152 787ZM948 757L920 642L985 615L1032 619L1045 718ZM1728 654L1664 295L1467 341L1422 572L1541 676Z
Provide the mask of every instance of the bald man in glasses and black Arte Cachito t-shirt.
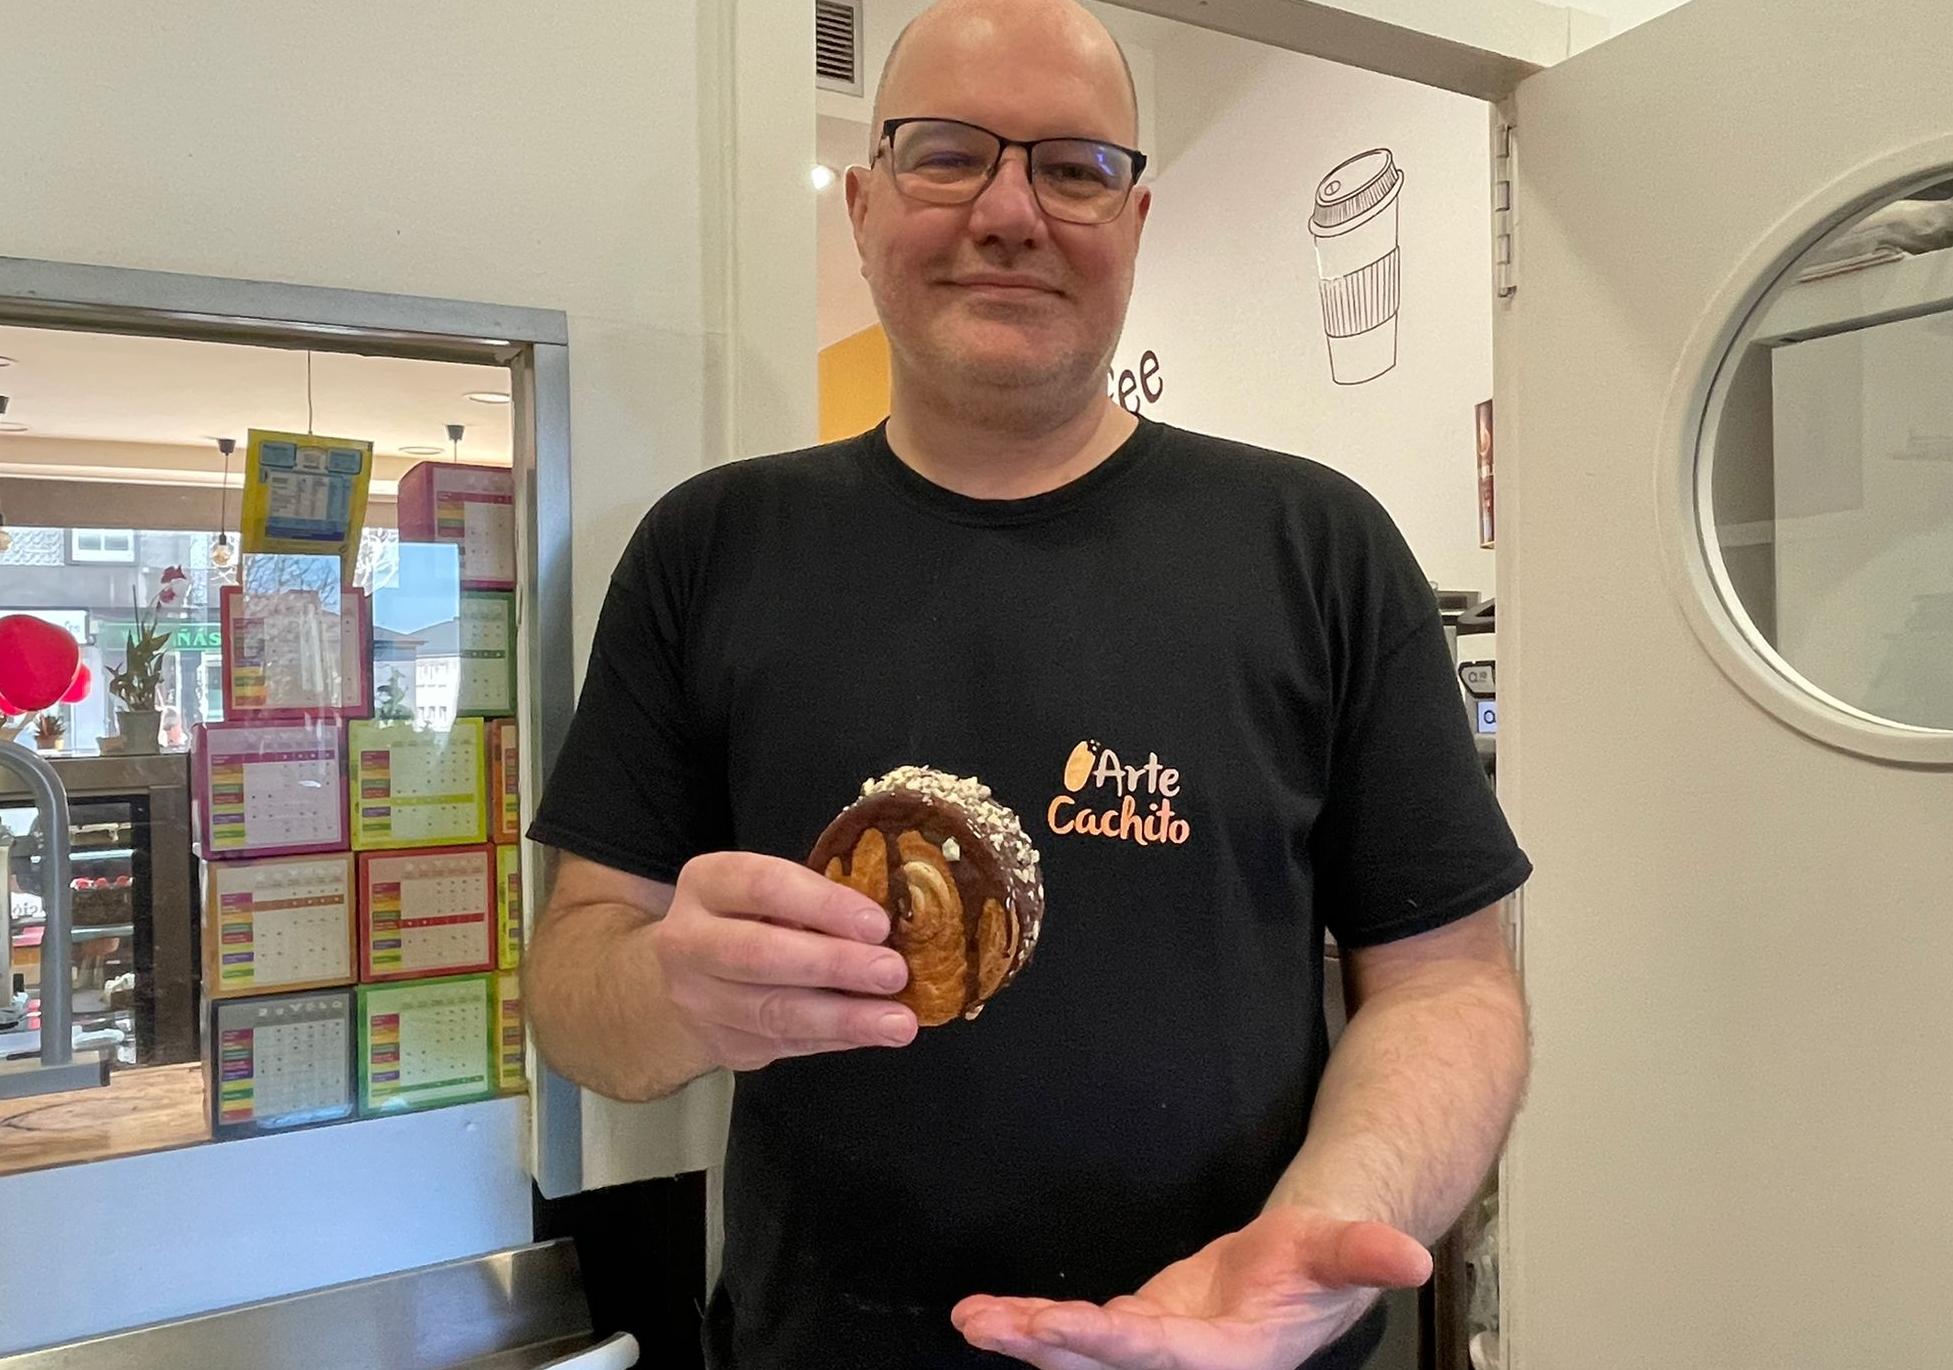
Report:
M687 481L619 563L531 833L537 1042L617 1098L740 1071L713 1366L1355 1366L1525 1073L1529 868L1437 608L1348 481L1105 399L1150 193L1096 20L945 0L877 104L889 422ZM799 864L900 764L990 784L1047 889L922 1034L883 911ZM1176 821L1078 821L1127 799Z

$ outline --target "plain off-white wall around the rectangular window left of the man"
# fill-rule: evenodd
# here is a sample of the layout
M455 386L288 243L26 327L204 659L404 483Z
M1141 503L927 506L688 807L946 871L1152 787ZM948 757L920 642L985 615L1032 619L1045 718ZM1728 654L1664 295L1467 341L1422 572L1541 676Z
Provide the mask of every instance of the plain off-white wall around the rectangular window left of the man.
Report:
M734 451L814 436L812 27L777 14L775 0L14 4L0 254L566 311L582 657L652 498ZM684 1104L592 1114L590 1182L711 1151L713 1128ZM0 1214L43 1212L35 1196L68 1184L51 1223L186 1255L146 1268L160 1284L139 1309L184 1313L299 1288L324 1264L352 1278L525 1239L518 1132L494 1141L404 1134L396 1163L445 1165L449 1180L412 1196L412 1241L387 1235L402 1221L391 1196L353 1184L334 1192L338 1227L311 1225L297 1188L318 1178L264 1171L270 1147L205 1149L266 1196L234 1221L191 1221L230 1210L209 1165L172 1157L0 1178ZM353 1221L381 1241L346 1245ZM31 1261L0 1274L0 1350L129 1319L121 1282L78 1278L88 1263L55 1253L61 1309ZM211 1276L236 1266L254 1280Z

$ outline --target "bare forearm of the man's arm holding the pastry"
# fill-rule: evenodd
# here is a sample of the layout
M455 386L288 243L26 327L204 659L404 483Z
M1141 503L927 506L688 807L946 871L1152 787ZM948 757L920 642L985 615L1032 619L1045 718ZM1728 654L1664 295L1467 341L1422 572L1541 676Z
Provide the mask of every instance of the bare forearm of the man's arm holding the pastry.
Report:
M625 905L553 911L523 956L535 1049L609 1098L664 1098L711 1069L664 993L650 926Z

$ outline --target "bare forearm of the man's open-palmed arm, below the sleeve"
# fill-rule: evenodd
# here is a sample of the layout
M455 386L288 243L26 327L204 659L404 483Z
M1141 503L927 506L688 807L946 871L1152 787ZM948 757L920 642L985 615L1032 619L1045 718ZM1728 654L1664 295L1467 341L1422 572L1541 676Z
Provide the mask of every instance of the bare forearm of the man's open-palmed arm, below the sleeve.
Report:
M1437 1241L1498 1159L1525 1071L1525 1005L1508 969L1379 991L1330 1053L1309 1141L1269 1204Z

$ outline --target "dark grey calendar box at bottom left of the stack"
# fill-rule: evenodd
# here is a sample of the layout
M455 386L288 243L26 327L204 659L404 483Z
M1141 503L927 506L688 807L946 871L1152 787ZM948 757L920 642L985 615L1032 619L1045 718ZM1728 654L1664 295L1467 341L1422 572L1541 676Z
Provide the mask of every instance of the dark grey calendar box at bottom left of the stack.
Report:
M211 1005L211 1132L240 1137L353 1112L353 991Z

